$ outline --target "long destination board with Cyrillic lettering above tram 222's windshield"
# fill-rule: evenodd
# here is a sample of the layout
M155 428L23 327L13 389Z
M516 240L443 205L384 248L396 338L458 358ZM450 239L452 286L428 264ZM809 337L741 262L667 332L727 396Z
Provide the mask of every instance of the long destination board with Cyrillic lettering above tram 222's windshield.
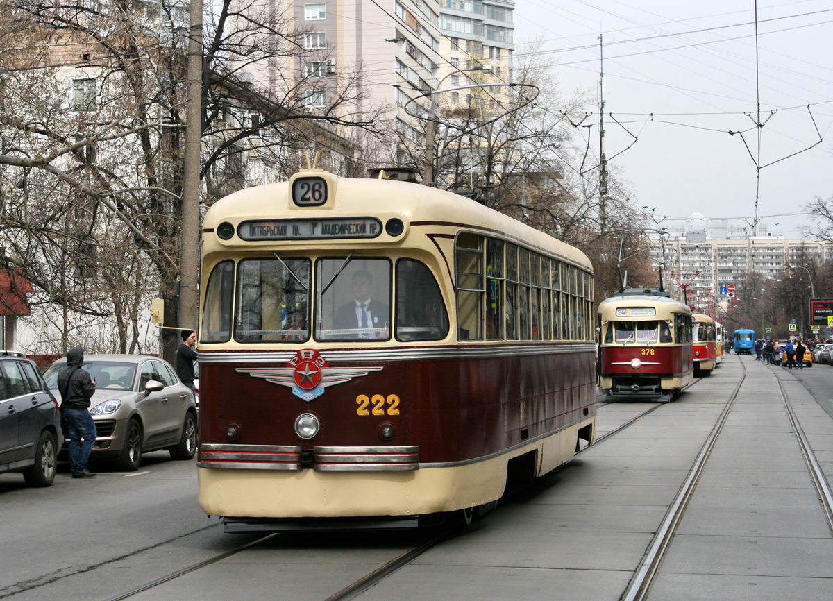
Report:
M373 217L243 221L237 227L237 235L247 241L375 238L381 233L382 222Z

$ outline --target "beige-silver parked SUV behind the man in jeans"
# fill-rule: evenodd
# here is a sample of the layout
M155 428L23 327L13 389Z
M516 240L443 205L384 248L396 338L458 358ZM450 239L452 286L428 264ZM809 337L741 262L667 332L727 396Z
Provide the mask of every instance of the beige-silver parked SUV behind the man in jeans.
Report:
M67 360L55 361L43 377L60 400L57 375ZM98 430L90 459L116 461L136 471L142 453L168 450L173 459L192 459L197 450L197 405L167 361L148 355L84 355L83 368L96 380L90 413Z

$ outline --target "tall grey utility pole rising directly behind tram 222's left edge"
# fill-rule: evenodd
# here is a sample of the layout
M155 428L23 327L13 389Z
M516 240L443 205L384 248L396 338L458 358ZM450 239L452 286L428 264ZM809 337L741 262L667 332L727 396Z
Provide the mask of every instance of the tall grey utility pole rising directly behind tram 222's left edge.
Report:
M197 329L200 238L200 146L202 142L202 0L191 0L188 27L185 165L182 175L179 315L181 327Z

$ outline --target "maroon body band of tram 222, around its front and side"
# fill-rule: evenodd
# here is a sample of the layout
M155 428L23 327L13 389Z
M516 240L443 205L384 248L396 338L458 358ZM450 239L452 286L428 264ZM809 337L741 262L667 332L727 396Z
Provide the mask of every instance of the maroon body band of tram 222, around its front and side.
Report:
M338 367L383 369L328 386L307 402L287 386L236 371L285 368L286 364L204 362L200 365L200 441L301 445L304 449L418 445L421 463L473 459L595 415L594 363L592 352L340 361ZM393 396L398 405L388 402ZM365 397L370 400L367 404ZM360 415L363 408L367 415ZM399 414L392 415L392 410ZM321 420L321 432L312 440L302 440L294 431L297 416L304 412ZM232 424L240 431L235 440L226 436ZM386 424L396 430L387 443L379 436Z

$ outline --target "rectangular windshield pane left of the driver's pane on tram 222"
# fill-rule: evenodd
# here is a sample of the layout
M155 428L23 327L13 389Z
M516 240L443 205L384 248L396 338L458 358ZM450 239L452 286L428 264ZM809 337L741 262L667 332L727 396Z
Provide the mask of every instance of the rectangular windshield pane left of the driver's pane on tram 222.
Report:
M238 269L236 340L309 340L310 261L246 259Z

